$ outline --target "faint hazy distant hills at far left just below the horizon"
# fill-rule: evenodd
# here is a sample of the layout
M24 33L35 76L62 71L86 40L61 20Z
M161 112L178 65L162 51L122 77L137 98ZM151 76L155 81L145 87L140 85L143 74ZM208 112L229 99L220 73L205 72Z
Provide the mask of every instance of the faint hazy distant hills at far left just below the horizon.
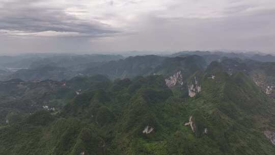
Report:
M102 65L108 61L123 59L120 55L26 55L3 57L9 63L0 66L9 73L0 74L1 81L10 79L34 80L69 80L90 66ZM1 59L1 58L0 58ZM14 68L15 67L15 68Z

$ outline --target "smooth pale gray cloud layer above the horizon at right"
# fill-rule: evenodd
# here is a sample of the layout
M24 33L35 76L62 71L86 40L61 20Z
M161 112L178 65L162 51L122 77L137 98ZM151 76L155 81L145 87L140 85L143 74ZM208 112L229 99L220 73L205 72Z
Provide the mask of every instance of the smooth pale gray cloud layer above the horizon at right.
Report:
M136 21L137 28L132 29L139 30L138 33L95 42L94 48L112 50L116 47L117 51L243 49L274 53L275 21L271 20L274 17L275 11L265 10L253 15L203 19L163 18L153 14Z

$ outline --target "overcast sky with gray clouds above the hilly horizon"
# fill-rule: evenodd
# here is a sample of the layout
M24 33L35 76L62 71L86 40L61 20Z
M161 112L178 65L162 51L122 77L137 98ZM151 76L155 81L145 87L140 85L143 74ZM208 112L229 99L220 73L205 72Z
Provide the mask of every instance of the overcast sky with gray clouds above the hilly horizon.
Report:
M274 0L0 0L0 54L275 53Z

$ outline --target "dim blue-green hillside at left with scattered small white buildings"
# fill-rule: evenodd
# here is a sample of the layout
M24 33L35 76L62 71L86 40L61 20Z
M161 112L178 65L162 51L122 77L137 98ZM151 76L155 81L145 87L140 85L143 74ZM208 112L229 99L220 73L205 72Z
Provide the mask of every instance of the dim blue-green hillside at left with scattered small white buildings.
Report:
M14 112L22 115L42 109L54 109L57 112L81 91L89 87L103 87L99 83L108 85L109 80L102 75L95 75L74 77L61 82L52 80L25 82L20 79L0 82L0 114L3 116L0 122L9 121L9 113Z

